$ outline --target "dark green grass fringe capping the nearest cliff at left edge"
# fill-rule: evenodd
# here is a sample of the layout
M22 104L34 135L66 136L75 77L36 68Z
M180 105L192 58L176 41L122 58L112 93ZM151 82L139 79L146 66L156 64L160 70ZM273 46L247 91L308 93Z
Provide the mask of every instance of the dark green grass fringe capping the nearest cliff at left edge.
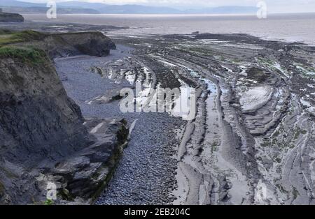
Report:
M32 47L0 47L0 59L15 59L31 65L47 63L48 56L43 50Z

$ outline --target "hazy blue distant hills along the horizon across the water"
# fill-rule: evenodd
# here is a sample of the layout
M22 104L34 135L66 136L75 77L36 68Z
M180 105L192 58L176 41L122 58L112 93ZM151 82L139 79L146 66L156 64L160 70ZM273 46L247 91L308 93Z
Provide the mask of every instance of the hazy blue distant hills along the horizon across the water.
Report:
M45 3L29 3L16 0L1 0L0 8L14 13L44 13ZM88 3L82 1L57 2L57 13L87 14L248 14L255 13L257 8L244 6L222 6L195 10L177 10L169 7L141 6L136 4L109 5L105 3Z

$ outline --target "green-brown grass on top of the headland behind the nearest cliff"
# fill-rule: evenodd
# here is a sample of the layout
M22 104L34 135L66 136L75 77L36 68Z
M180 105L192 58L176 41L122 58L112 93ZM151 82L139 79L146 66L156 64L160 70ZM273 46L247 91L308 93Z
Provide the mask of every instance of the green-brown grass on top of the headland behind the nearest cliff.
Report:
M45 38L45 33L37 31L10 31L6 29L0 30L0 47L13 43L22 43L31 40L42 40Z

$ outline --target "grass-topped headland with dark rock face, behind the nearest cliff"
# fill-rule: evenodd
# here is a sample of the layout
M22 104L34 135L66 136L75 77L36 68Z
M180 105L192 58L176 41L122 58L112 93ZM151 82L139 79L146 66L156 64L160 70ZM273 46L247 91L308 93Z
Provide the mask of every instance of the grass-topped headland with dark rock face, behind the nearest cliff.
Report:
M1 45L36 47L47 52L51 58L79 54L107 56L110 50L116 49L115 43L100 32L47 34L0 30Z

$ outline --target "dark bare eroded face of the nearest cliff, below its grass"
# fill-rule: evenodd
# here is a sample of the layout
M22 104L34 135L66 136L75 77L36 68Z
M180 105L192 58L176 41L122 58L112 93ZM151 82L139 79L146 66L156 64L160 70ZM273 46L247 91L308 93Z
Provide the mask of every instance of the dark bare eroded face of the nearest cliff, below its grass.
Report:
M33 65L1 59L0 74L3 158L31 166L46 153L56 160L87 144L80 109L49 60Z

